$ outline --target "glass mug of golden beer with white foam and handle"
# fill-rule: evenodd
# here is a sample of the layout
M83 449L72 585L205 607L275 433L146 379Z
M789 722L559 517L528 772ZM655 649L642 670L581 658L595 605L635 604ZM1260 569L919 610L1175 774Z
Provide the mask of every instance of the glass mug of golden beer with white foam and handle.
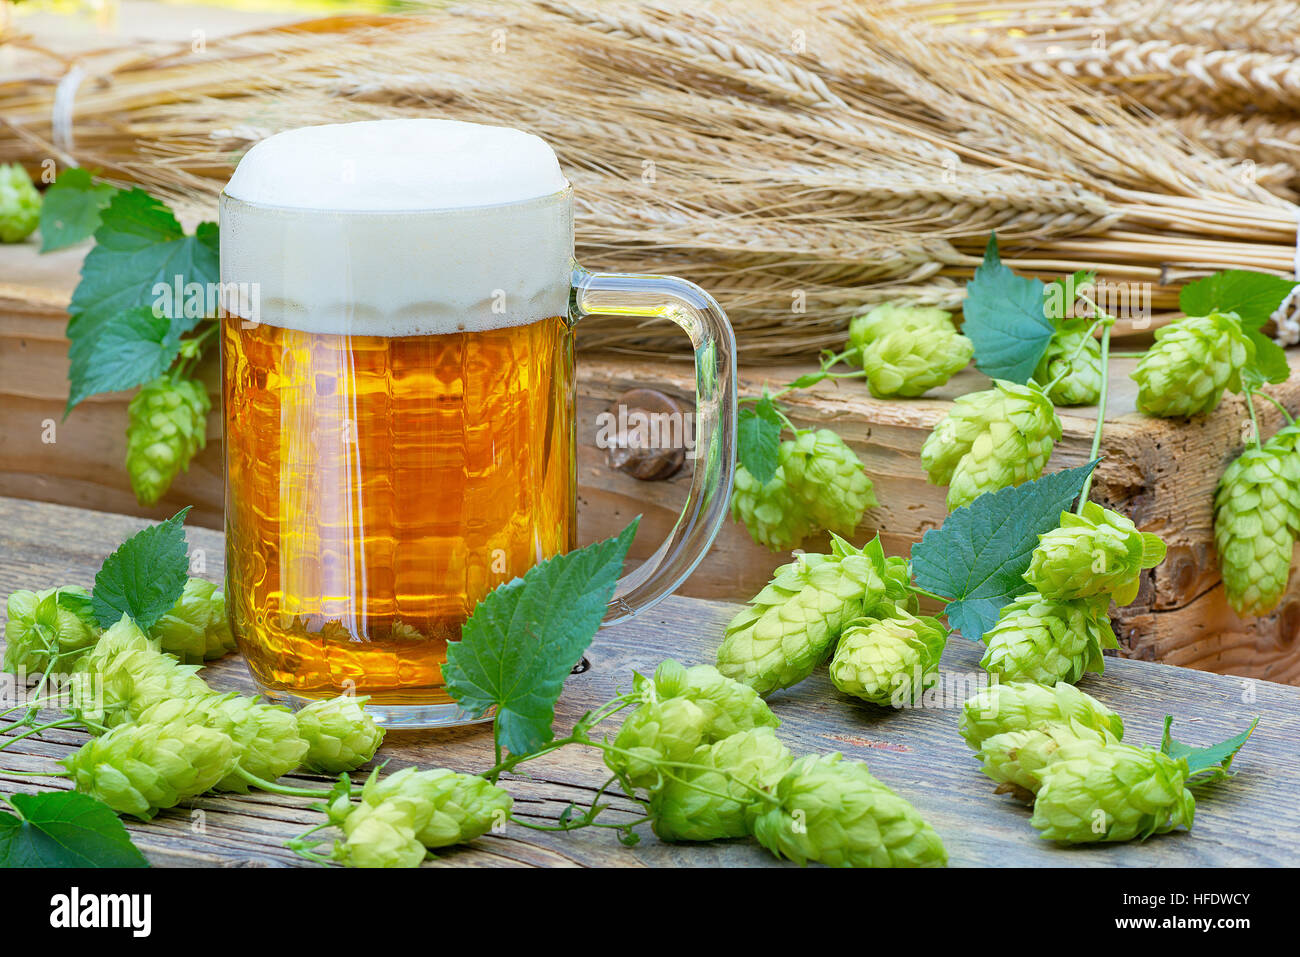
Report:
M572 187L537 137L443 120L272 137L222 192L221 283L226 603L272 700L467 723L447 642L576 545L582 316L671 320L696 358L685 507L606 624L672 593L725 516L727 317L690 282L573 263Z

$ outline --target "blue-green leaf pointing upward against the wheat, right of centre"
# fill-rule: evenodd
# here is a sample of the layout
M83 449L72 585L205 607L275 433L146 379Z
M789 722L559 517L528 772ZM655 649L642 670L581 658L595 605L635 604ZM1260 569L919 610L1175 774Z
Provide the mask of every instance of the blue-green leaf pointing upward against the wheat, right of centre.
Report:
M993 378L1028 382L1054 329L1043 281L1002 265L997 234L989 235L984 261L966 283L962 315L962 333L975 343L975 367Z

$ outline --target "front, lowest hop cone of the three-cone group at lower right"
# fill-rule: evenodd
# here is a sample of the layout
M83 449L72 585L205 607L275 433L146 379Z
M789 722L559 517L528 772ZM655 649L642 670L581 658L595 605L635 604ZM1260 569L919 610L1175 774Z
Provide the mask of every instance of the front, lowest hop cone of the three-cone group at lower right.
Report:
M1062 755L1039 772L1030 823L1066 844L1145 840L1191 830L1196 798L1183 787L1187 762L1150 748L1112 744Z

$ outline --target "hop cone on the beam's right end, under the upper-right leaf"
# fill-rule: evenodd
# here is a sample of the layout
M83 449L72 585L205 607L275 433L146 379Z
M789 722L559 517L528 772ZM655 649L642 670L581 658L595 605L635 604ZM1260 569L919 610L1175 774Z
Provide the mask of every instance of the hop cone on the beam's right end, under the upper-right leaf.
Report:
M1164 417L1209 412L1223 390L1242 387L1242 369L1254 343L1235 312L1187 316L1156 330L1156 342L1138 363L1138 408Z

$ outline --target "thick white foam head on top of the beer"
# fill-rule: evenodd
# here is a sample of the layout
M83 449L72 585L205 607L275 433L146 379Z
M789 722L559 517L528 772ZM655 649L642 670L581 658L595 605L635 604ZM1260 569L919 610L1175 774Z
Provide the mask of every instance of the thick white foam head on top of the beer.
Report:
M263 140L221 200L221 280L263 322L355 335L523 325L568 308L573 218L551 148L450 120ZM247 302L228 309L248 316Z

